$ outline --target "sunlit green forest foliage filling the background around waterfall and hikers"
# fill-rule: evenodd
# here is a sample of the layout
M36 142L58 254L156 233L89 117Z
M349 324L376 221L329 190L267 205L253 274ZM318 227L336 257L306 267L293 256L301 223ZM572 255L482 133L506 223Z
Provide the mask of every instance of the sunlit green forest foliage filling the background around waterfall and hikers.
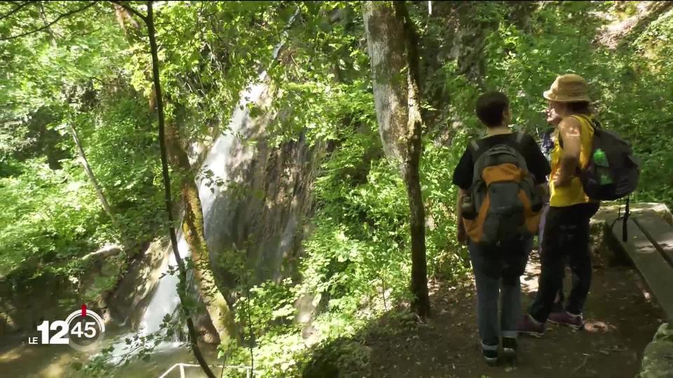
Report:
M57 276L76 284L90 268L83 256L106 244L123 245L121 275L165 230L146 37L121 27L111 3L16 4L0 3L0 279L20 285ZM451 173L466 141L482 132L473 107L484 90L508 94L515 127L538 135L548 127L543 90L559 73L584 76L602 123L633 141L643 162L634 200L672 204L670 4L433 2L431 12L428 2L408 4L421 53L432 279L459 281L470 271L454 239ZM80 8L39 32L6 38ZM323 343L388 311L407 316L409 206L397 168L383 158L362 3L171 2L157 13L166 114L193 162L196 148L226 132L239 93L264 69L271 110L284 114L268 125L269 143L292 148L301 138L322 151L310 183L310 231L301 255L286 262L290 274L254 282L235 251L222 262L248 285L230 290L238 293L238 325L252 327L255 364L287 376L311 359L316 345L292 321L302 295L318 305L311 326ZM96 298L116 283L105 276L82 295ZM222 355L249 363L244 345L223 344ZM357 347L335 353L345 365L366 363Z

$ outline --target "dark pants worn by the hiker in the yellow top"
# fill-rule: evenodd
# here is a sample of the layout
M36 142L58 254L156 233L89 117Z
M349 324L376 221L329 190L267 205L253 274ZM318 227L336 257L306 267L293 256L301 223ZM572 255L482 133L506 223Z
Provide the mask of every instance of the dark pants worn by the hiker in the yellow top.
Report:
M562 286L566 258L573 274L566 311L582 313L591 285L589 221L598 207L594 203L550 207L545 220L538 294L529 311L536 321L547 321Z

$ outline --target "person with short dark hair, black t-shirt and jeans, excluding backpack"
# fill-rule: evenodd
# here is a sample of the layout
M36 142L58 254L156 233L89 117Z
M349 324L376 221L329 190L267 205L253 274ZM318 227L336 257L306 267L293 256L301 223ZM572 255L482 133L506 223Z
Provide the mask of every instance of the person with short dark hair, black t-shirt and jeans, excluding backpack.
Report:
M475 106L475 113L487 127L486 136L479 141L477 151L489 151L500 145L511 146L525 159L527 170L533 174L538 185L546 186L550 167L536 141L528 134L512 133L510 122L512 112L505 94L488 92L482 94ZM453 183L458 190L458 241L468 242L468 234L463 223L463 200L473 185L475 162L479 158L469 147L465 149L454 171ZM512 241L498 242L496 247L484 247L470 239L468 250L477 286L477 323L479 325L482 355L487 363L498 359L498 346L508 356L517 351L517 318L521 307L521 285L519 277L524 273L528 255L532 248L532 237L522 236ZM501 296L502 313L498 325L498 295Z

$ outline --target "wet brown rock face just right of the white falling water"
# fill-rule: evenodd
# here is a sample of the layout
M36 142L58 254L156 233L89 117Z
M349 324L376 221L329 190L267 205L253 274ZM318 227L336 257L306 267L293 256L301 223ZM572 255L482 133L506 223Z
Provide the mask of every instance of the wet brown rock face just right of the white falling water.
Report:
M271 101L262 95L264 107ZM221 283L233 288L236 263L253 273L252 283L292 276L301 254L304 219L311 212L311 183L323 155L299 134L276 146L271 131L283 115L248 120L231 141L226 183L215 190L204 214L205 238ZM238 269L240 270L240 269Z

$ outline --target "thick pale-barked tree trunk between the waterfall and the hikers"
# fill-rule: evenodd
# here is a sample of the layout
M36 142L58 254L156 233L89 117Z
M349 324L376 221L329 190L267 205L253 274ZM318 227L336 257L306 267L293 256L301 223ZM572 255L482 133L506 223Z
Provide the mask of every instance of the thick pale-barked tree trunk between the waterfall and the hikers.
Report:
M364 18L379 133L386 156L400 163L409 200L412 307L416 314L426 317L430 300L419 174L423 119L416 31L402 1L367 1Z

